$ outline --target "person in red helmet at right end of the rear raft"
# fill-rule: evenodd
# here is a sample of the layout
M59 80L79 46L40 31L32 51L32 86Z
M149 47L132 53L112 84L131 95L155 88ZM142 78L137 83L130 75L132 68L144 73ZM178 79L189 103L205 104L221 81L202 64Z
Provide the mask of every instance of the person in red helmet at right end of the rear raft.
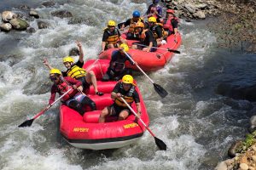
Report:
M174 16L174 10L166 10L166 18L163 20L163 28L167 31L168 36L171 34L177 35L178 19Z

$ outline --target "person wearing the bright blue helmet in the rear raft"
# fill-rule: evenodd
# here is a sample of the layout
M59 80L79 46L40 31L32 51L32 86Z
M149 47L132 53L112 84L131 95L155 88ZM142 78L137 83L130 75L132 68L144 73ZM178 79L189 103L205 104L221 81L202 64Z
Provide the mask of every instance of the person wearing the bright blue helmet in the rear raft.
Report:
M132 18L129 19L129 20L126 20L125 23L123 23L122 26L120 27L120 30L123 31L126 26L129 26L129 30L126 33L126 39L127 40L134 40L134 26L136 25L136 23L137 22L143 22L144 23L143 19L140 18L140 17L141 17L140 12L135 10L132 13Z

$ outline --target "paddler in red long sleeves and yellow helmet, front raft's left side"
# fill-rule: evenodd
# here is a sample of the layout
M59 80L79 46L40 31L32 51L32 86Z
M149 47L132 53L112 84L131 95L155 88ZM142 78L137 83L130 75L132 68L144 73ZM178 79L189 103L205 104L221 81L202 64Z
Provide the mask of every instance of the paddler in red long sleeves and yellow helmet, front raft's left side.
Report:
M72 89L68 94L62 97L61 102L75 111L78 111L81 116L84 115L85 105L89 105L92 111L96 111L96 104L88 96L81 94L83 88L82 82L79 82L72 77L61 77L61 71L58 69L51 69L49 71L49 79L54 82L50 90L49 105L55 101L56 93L62 95L67 90ZM79 90L78 90L78 89Z

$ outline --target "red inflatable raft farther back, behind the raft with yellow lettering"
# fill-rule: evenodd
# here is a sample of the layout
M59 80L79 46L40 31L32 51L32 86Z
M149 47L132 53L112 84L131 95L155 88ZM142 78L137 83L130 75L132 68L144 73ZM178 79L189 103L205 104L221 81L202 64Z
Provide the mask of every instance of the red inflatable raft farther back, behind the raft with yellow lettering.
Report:
M132 40L127 40L128 45L131 46ZM129 50L129 54L131 54L132 59L137 61L137 64L143 69L143 71L157 71L163 68L173 57L173 53L169 52L167 49L177 50L181 44L181 35L178 33L175 39L174 35L167 37L167 43L165 45L161 45L155 52L144 52L139 49L131 49ZM163 49L160 49L163 48ZM113 50L116 48L108 49L102 54L99 55L100 59L111 59L111 54ZM135 65L131 65L128 61L125 63L127 67L137 70Z

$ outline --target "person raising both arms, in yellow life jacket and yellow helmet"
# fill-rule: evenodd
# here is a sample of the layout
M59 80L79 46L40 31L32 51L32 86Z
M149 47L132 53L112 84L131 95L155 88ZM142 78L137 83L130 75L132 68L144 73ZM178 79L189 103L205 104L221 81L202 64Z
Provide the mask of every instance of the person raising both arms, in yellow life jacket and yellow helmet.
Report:
M84 65L84 52L82 45L79 41L77 41L77 45L79 46L79 60L74 63L74 59L70 56L67 56L63 58L63 64L67 68L67 71L61 71L63 77L72 77L74 79L79 80L82 82L83 88L88 89L90 88L90 84L95 89L95 92L97 95L102 96L103 93L99 92L97 89L97 82L96 82L96 76L93 71L86 72L83 69ZM47 66L50 69L53 69L51 65L49 65L49 62L47 59L44 59L43 61L44 65Z

